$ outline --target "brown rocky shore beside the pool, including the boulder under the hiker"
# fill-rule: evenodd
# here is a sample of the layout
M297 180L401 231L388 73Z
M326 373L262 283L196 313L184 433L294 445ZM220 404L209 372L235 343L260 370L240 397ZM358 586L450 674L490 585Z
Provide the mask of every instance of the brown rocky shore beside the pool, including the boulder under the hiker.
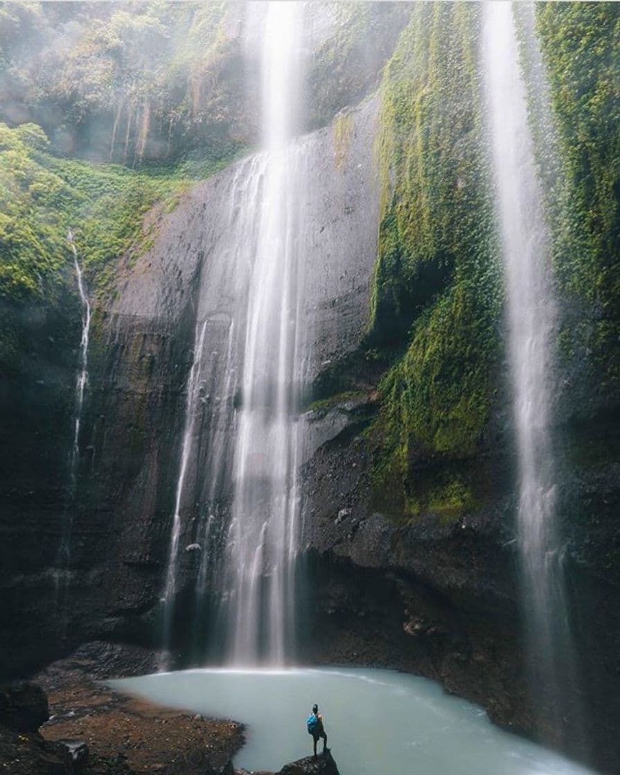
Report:
M232 763L244 744L242 724L123 696L89 676L88 667L82 652L40 673L37 684L0 687L0 773L250 775ZM106 672L105 660L99 672ZM277 775L338 775L338 767L327 752Z

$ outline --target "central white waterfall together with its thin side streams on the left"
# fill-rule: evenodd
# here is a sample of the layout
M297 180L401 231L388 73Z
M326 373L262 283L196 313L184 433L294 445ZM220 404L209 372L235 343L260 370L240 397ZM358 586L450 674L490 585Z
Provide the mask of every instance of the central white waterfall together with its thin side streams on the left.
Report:
M216 388L214 427L227 425L232 454L220 434L197 474L213 482L207 499L216 509L215 484L231 465L233 500L223 567L216 574L217 617L225 652L235 664L283 663L294 633L294 569L299 532L297 472L303 383L300 341L303 294L300 230L305 179L303 141L296 141L300 84L302 3L269 3L262 50L262 153L241 165L234 181L229 235L244 284L234 319L228 319L223 381ZM212 321L211 321L212 322ZM203 350L208 321L196 326L194 360L186 387L185 430L175 496L164 607L165 642L171 638L185 479L195 436L199 391L206 380ZM220 353L213 353L220 356ZM209 364L213 370L213 363ZM241 406L234 408L234 395ZM221 412L221 414L220 414ZM231 416L232 415L232 416ZM232 458L232 462L231 462ZM196 598L218 562L210 552L215 516L204 521ZM218 567L219 566L218 562ZM213 575L213 568L211 569ZM203 601L204 602L204 601ZM200 612L197 611L197 615Z

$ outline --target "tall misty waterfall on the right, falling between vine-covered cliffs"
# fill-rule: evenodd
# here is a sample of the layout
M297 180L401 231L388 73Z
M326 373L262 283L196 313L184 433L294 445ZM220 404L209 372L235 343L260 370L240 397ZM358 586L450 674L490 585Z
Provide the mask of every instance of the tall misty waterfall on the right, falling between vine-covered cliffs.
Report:
M511 3L483 5L483 51L507 289L528 669L539 716L557 733L571 649L550 434L556 305Z

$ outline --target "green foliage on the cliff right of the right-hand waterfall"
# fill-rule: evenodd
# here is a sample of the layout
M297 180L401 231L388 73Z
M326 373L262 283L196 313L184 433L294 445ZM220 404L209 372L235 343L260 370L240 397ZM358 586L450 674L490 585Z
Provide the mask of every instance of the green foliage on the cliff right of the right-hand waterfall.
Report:
M583 311L566 322L564 353L587 356L597 385L610 388L620 384L620 5L536 10L562 167L556 277Z

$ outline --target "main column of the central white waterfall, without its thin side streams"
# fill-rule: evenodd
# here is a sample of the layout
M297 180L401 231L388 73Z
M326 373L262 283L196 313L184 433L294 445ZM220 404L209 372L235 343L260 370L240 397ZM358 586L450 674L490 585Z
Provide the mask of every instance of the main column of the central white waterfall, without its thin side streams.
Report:
M241 217L255 254L244 332L234 501L227 539L227 653L234 663L282 663L292 637L298 532L295 415L300 392L300 153L293 142L300 94L303 5L270 2L262 50L264 152L257 198Z

